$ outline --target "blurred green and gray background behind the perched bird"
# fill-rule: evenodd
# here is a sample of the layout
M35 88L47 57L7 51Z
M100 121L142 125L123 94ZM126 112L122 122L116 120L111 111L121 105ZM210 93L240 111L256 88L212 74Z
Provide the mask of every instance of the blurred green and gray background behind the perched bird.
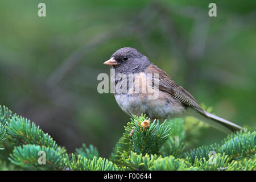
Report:
M46 3L46 17L38 3ZM210 2L217 17L208 16ZM93 144L108 157L130 121L99 94L102 64L134 47L213 113L255 129L256 1L0 1L0 105L69 152ZM225 134L207 128L195 145ZM196 146L191 146L196 147Z

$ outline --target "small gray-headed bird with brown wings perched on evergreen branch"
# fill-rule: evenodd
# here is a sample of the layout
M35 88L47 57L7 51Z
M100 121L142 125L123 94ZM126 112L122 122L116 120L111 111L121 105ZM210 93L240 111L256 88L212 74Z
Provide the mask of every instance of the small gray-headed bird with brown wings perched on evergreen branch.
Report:
M152 64L135 48L118 49L104 64L114 68L114 77L110 79L115 89L127 86L128 92L114 92L114 96L121 109L130 116L146 114L151 119L192 116L225 133L243 130L242 127L203 110L187 90L176 84L166 72ZM155 74L157 76L152 77ZM135 79L139 81L131 82L128 78L125 79L119 75L127 77L135 75ZM149 76L151 79L147 79ZM141 92L143 87L158 91L158 97L150 99L149 96L152 92ZM138 92L134 92L135 88Z

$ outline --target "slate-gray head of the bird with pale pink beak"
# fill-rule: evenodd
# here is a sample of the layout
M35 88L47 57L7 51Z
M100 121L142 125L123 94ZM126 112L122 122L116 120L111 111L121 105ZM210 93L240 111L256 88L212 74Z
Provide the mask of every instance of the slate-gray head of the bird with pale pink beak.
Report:
M112 65L115 73L139 73L144 71L150 61L135 48L123 47L115 51L104 64Z

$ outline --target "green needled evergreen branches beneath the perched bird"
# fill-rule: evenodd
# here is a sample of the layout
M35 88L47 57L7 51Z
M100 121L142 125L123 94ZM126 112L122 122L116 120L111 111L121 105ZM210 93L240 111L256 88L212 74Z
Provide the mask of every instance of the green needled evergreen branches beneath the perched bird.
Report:
M7 149L0 153L3 166L0 169L14 169L15 165L30 170L255 170L256 131L232 133L220 144L184 153L183 119L172 119L162 125L147 119L145 115L133 116L110 161L100 158L92 145L82 144L75 154L68 155L64 147L57 146L35 123L0 106L0 143ZM10 140L6 140L8 136ZM10 148L13 148L9 158L12 164L3 161ZM42 151L46 154L46 164L39 160ZM210 156L210 151L216 156Z

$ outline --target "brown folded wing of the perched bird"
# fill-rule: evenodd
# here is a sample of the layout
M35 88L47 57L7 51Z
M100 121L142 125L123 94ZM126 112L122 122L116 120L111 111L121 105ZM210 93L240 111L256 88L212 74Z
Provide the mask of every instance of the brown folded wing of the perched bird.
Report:
M193 98L193 96L191 96L191 94L189 94L187 90L185 90L182 86L179 86L174 81L172 81L171 78L167 75L167 73L164 72L162 69L156 67L156 65L154 64L150 64L146 68L145 72L152 74L158 73L159 90L171 94L171 96L179 100L184 105L192 107L199 111L201 114L205 115L204 110L200 107L195 98ZM152 80L154 81L154 79Z

